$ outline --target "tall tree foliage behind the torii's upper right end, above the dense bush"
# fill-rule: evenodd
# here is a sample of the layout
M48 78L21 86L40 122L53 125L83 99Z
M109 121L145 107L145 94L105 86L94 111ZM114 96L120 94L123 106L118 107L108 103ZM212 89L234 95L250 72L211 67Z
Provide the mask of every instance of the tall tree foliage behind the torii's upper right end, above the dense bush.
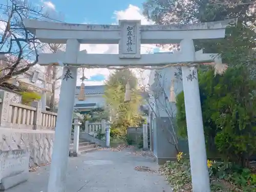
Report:
M146 0L143 14L163 25L238 18L237 26L226 29L224 39L195 40L195 48L204 49L205 53L220 53L229 67L247 66L251 77L255 78L255 6L256 2L251 0Z

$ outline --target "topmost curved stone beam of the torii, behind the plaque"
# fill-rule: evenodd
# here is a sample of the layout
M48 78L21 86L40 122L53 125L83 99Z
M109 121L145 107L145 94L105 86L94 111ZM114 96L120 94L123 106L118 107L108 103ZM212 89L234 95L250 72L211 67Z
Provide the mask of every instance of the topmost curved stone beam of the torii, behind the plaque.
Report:
M225 28L236 19L220 22L172 25L140 25L140 20L119 20L119 25L86 25L42 22L25 19L27 29L41 42L66 44L68 39L78 39L80 44L119 44L120 32L127 25L136 25L141 44L179 43L184 37L191 39L223 38ZM207 31L207 32L206 32Z

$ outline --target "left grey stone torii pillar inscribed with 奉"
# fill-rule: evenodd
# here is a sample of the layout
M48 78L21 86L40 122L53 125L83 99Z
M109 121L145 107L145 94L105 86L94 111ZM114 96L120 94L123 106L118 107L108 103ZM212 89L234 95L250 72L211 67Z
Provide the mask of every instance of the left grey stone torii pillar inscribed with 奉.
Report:
M76 39L68 39L66 58L63 59L69 63L76 63L79 49L80 44ZM64 192L66 188L76 79L77 68L63 68L48 192Z

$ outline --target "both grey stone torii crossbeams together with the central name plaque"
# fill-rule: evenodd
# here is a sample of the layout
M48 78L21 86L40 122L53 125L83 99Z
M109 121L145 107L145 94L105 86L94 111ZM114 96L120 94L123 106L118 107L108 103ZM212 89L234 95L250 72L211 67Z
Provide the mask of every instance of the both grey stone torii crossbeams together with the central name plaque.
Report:
M161 55L141 54L141 44L172 44L183 39L223 38L225 28L237 19L220 22L198 23L188 25L141 25L140 20L119 20L119 25L84 25L54 22L42 22L26 19L25 27L35 33L41 42L67 44L73 48L69 52L40 54L39 64L49 65L61 60L67 65L86 66L154 66L180 62L211 62L210 54L195 54L192 60L184 60L185 52ZM75 42L75 41L76 42ZM76 51L77 44L119 44L119 54L87 54ZM70 44L71 46L71 44ZM184 47L184 46L183 46ZM186 46L185 46L186 47ZM74 59L69 59L70 56ZM192 58L192 57L191 57Z

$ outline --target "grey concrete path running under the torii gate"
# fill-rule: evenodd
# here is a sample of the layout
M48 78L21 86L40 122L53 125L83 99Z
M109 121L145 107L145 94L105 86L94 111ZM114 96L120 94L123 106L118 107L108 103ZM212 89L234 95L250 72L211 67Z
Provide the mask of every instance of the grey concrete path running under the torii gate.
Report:
M158 169L150 157L135 155L131 150L95 151L69 158L66 192L171 192L163 176L139 172L137 166ZM29 181L7 192L47 192L50 166L30 173Z

